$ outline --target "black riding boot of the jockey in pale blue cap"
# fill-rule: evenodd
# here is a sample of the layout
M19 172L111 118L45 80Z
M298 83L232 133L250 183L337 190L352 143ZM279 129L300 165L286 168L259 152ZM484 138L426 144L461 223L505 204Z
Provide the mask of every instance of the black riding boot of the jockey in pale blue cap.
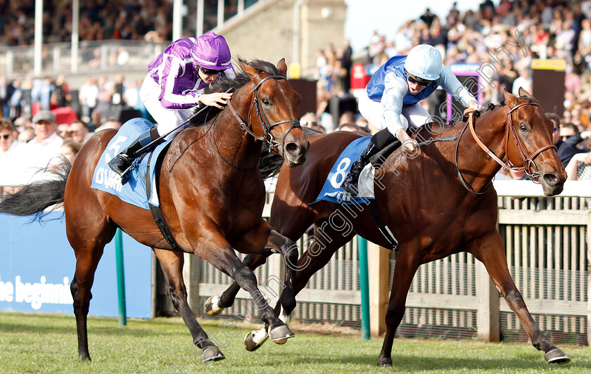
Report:
M345 176L341 188L352 196L357 196L357 193L359 193L359 175L365 165L368 164L371 157L374 157L374 155L377 155L381 150L384 150L388 145L395 142L398 142L398 146L400 145L400 141L398 141L388 129L382 129L376 132L374 136L371 136L371 140L367 144L367 147L363 150L360 157L353 162L353 165L351 165L349 174ZM383 153L378 160L374 160L374 167L379 167L396 147L397 145L393 144L393 147L390 147L390 150L384 151L385 153Z

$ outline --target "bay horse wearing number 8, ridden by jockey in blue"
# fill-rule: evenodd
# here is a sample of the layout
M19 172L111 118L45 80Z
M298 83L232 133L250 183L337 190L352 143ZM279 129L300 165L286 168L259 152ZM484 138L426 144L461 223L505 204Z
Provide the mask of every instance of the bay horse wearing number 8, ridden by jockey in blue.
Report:
M399 150L376 170L376 205L399 243L379 366L392 366L394 335L402 321L409 287L419 266L461 251L483 262L507 304L519 317L533 346L545 352L545 360L548 363L570 361L561 349L547 340L530 315L507 269L504 245L496 227L497 193L491 187L501 166L494 157L507 168L524 169L542 185L545 195L561 193L566 181L566 172L552 145L552 122L527 91L520 89L519 95L518 98L506 92L501 105L489 105L489 110L475 120L475 128L468 122L463 126L445 127L426 124L414 138L451 137L454 141L421 146L420 153L413 158L403 157ZM440 130L433 131L436 127ZM466 134L469 127L474 131L471 129ZM312 242L297 266L291 266L298 269L296 293L355 234L391 247L379 232L367 205L341 206L324 200L311 204L322 190L338 155L360 136L363 135L347 131L314 136L310 138L305 165L297 169L289 169L287 165L281 168L269 223L292 240L298 240L314 224ZM269 169L274 168L274 162L275 166L281 165L281 160L262 160ZM348 227L352 229L348 231ZM249 255L244 261L250 269L255 269L265 263L265 256ZM220 308L231 306L238 290L236 283L231 285L219 297ZM290 307L279 302L275 311L287 321L293 311ZM258 349L265 340L264 330L253 331L245 338L246 349Z

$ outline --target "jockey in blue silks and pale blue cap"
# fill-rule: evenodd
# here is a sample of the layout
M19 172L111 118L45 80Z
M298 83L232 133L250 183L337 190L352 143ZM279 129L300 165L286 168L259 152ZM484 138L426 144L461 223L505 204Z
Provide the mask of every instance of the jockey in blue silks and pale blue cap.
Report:
M362 96L359 111L369 123L380 129L360 157L353 162L341 188L357 195L359 174L369 159L396 138L407 153L414 153L417 141L406 130L433 122L417 103L427 98L438 86L452 94L468 108L481 110L476 98L462 86L449 67L441 62L441 54L433 46L419 44L407 56L394 56L371 76Z

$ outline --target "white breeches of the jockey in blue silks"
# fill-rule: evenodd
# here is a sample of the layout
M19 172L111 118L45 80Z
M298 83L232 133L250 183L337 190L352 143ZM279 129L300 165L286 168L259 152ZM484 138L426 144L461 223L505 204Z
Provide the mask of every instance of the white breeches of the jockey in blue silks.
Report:
M361 115L376 129L386 129L396 134L398 127L393 124L386 124L383 118L383 107L379 101L373 101L367 96L367 91L363 91L359 98L359 112ZM423 126L426 123L433 122L431 116L425 108L420 104L402 105L402 113L400 113L400 122L402 126L408 129L409 125L412 127Z

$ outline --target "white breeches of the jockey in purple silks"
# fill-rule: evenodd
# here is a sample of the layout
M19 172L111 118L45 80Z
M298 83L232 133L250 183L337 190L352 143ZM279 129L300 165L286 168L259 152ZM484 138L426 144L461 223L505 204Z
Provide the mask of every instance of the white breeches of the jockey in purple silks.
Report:
M189 109L166 109L163 108L158 97L160 96L160 85L154 82L154 79L148 74L141 84L139 96L146 109L156 121L158 134L160 136L172 131L174 128L189 120L193 110ZM183 127L168 135L165 139L174 138Z

